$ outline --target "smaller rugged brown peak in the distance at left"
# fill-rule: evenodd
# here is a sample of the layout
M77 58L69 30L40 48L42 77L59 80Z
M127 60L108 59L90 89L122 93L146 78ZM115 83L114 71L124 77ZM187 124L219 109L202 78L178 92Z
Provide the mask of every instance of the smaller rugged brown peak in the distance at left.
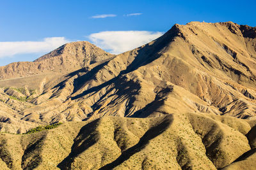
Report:
M0 80L44 73L70 73L113 57L87 41L67 43L33 62L13 62L0 67Z

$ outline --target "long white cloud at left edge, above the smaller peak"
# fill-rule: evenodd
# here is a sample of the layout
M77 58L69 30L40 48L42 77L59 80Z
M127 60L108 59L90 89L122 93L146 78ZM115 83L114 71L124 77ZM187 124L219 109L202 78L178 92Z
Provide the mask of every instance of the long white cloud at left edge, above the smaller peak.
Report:
M68 43L64 37L44 38L44 41L6 41L0 42L0 58L24 53L51 52Z

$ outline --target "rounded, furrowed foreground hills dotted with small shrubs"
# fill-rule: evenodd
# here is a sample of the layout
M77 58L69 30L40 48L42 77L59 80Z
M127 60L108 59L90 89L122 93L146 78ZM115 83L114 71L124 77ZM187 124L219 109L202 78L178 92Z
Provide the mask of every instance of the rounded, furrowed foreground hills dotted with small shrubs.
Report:
M250 129L245 120L205 113L69 122L35 134L1 134L0 166L217 169L233 166L241 155L253 152L245 136Z

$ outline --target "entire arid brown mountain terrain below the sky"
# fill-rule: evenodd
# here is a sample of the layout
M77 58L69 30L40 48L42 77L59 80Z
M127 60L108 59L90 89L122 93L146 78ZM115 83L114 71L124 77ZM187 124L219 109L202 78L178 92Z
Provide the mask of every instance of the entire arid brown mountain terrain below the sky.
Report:
M0 169L255 169L256 27L175 24L119 55L79 41L2 66L0 131Z

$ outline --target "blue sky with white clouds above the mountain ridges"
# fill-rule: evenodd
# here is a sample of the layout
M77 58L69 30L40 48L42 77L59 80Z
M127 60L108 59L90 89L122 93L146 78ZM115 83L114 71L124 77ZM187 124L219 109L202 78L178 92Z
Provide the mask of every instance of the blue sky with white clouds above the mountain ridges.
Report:
M68 41L91 41L120 53L161 36L176 23L232 21L255 27L255 7L255 0L1 0L0 66L35 60Z

